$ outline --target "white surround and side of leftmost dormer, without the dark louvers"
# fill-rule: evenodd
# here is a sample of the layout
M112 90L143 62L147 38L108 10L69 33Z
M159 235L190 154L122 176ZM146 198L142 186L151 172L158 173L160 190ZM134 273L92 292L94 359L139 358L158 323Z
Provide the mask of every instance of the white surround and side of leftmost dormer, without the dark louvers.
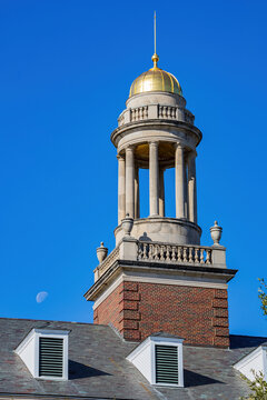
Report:
M63 370L61 377L39 377L39 343L40 338L63 339ZM21 358L33 378L47 380L68 380L68 348L69 331L52 329L32 329L22 342L17 347L14 352Z

